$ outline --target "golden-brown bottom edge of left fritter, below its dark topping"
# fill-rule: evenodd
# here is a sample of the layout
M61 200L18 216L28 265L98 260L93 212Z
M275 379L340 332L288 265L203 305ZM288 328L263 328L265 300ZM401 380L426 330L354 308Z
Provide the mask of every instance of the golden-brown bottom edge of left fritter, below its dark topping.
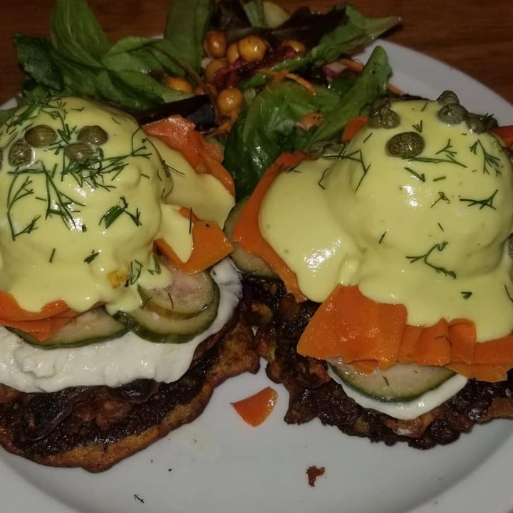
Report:
M207 405L214 388L224 380L246 371L256 372L259 368L259 357L253 349L251 328L246 323L239 321L214 348L209 350L209 353L202 357L203 360L209 360L205 363L207 370L201 378L198 378L201 379L202 384L198 390L195 390L192 399L185 404L179 403L171 405L171 407L162 399L162 404L158 404L158 407L165 409L167 413L158 423L154 423L140 432L137 430L131 433L126 432L125 435L116 436L113 440L110 430L105 430L105 432L100 432L100 435L96 434L93 441L84 443L78 437L76 444L71 448L59 452L45 451L44 447L41 450L41 442L31 444L26 440L19 440L16 434L16 422L9 420L9 415L12 415L12 410L16 409L15 405L19 403L12 401L9 404L11 408L9 410L4 408L4 415L0 413L0 444L9 452L27 457L43 465L83 467L90 472L108 470L120 460L164 437L171 430L195 420ZM181 378L180 381L185 383L185 387L187 387L187 379L190 378L189 374L195 372L201 374L202 370L201 368L192 368ZM169 386L178 386L177 383ZM161 386L165 387L166 385ZM152 401L159 401L159 395L165 398L165 394L157 393ZM142 411L138 408L144 408L144 405L136 405L130 415L138 415L138 411ZM132 425L137 427L138 424L132 423Z

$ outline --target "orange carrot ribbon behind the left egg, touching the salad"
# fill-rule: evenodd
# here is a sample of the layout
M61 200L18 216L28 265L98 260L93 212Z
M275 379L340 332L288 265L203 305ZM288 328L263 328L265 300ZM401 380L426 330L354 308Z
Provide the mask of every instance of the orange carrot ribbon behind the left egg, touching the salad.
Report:
M232 175L221 165L222 149L218 145L204 140L195 130L194 123L172 115L169 118L144 125L148 135L159 138L173 150L178 150L196 172L209 173L219 180L227 190L235 196L235 185Z

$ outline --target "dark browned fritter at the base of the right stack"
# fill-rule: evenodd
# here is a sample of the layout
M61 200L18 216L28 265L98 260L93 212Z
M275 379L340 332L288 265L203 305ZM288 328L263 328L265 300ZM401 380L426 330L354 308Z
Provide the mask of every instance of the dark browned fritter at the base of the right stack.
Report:
M500 383L469 380L465 388L439 407L413 420L398 420L358 405L341 385L330 378L326 363L296 352L297 342L317 308L309 301L297 304L283 286L248 279L255 303L273 312L259 324L256 346L266 359L266 373L289 392L286 423L301 424L319 418L347 435L367 437L373 442L429 449L457 440L477 423L494 418L513 418L513 371ZM258 312L259 307L252 311Z

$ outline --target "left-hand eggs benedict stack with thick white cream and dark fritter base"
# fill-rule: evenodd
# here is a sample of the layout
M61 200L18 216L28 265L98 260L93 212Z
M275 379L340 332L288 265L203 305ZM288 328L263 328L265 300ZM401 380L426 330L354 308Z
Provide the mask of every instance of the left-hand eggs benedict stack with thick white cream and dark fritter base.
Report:
M0 147L1 445L105 470L256 371L224 259L233 184L190 123L44 99Z

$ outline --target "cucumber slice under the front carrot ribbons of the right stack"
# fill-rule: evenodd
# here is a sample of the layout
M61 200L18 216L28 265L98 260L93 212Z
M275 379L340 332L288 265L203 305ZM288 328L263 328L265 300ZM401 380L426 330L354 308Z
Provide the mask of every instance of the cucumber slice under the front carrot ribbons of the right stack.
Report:
M371 398L387 402L413 400L455 375L445 367L418 366L415 363L397 363L388 369L376 369L371 374L358 372L351 365L333 360L328 361L328 365L346 385Z

